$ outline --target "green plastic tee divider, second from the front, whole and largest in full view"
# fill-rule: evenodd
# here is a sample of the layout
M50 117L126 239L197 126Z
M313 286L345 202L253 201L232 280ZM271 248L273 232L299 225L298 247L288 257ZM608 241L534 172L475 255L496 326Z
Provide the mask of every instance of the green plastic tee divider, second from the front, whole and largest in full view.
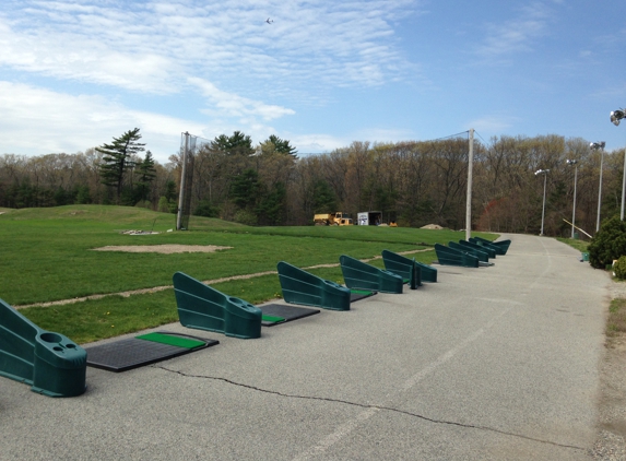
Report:
M261 336L262 314L258 307L182 272L176 272L173 280L178 317L184 327L240 339Z

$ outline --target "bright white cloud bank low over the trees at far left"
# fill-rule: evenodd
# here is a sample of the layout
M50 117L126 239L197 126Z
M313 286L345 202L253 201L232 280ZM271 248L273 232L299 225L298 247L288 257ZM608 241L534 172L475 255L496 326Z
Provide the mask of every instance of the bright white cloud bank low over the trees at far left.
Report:
M198 122L132 110L102 96L69 95L0 81L0 154L75 153L140 128L154 157L167 162L180 132L201 132Z

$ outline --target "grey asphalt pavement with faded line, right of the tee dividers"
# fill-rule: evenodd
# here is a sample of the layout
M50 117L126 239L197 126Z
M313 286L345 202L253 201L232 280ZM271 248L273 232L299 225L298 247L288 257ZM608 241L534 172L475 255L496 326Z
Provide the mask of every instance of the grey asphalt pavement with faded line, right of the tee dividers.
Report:
M579 460L610 279L552 238L51 399L0 378L0 460ZM185 268L180 268L185 270ZM173 297L174 303L174 297Z

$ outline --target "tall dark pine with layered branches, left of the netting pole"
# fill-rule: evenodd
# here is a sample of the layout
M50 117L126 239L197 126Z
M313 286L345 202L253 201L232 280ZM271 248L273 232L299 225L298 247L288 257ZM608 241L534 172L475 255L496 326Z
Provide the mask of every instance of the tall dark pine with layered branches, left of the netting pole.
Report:
M102 182L116 188L117 200L121 196L125 173L132 168L132 156L143 152L145 144L139 143L141 139L139 128L127 131L119 138L114 138L113 143L103 144L96 151L103 154L101 165Z

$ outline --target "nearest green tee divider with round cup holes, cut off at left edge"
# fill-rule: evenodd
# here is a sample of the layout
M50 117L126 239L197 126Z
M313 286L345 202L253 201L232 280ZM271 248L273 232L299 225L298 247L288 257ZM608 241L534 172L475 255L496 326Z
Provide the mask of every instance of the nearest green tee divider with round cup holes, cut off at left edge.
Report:
M81 395L87 353L69 338L37 327L0 299L0 376L48 397Z

